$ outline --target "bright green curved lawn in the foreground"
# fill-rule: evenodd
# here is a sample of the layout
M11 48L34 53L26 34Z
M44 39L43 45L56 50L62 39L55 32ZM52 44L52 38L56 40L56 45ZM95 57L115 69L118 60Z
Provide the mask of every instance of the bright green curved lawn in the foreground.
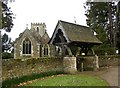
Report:
M99 77L79 74L45 77L25 86L108 86L108 83Z

